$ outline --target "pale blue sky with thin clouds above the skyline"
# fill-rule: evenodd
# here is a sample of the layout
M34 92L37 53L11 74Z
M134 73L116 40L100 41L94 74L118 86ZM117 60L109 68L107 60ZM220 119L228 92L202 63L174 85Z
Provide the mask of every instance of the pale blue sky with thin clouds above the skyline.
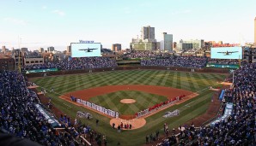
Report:
M255 8L255 0L1 0L0 45L65 50L82 39L125 49L142 26L154 26L158 41L168 32L174 41L253 42Z

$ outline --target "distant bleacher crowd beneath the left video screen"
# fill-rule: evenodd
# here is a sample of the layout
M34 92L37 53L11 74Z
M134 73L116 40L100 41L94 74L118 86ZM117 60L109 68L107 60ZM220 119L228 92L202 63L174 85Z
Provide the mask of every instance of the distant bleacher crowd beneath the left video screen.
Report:
M44 64L34 64L24 66L24 70L58 68L60 70L75 70L85 68L101 68L101 67L117 67L115 60L109 57L82 57L73 58L71 60L65 59L63 61L53 62L49 61Z

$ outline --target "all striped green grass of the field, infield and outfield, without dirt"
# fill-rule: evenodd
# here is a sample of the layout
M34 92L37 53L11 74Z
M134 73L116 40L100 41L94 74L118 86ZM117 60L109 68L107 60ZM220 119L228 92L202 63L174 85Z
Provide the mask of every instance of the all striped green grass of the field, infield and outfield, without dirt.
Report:
M200 114L204 114L207 110L211 97L214 91L210 91L209 87L221 87L221 81L226 78L227 74L218 73L188 73L188 72L174 72L162 70L130 70L130 71L110 71L101 73L83 73L63 76L49 76L43 78L31 79L41 88L45 88L46 96L52 98L54 107L67 114L72 120L76 118L77 111L86 111L93 115L93 120L82 119L82 122L88 124L95 131L107 136L108 145L143 145L145 143L146 135L160 131L163 133L163 124L168 123L169 129L180 126L188 120L192 120ZM121 131L118 133L110 125L110 117L93 112L88 108L77 106L72 102L67 102L59 96L68 96L70 93L76 94L81 92L79 97L87 99L89 102L94 102L105 108L110 108L119 111L119 114L135 114L136 112L149 108L156 103L164 102L169 97L173 97L172 92L162 94L163 91L138 90L131 88L126 90L116 90L109 92L102 92L97 89L105 88L106 86L122 86L122 85L149 85L157 88L180 89L175 91L174 95L184 94L186 96L192 93L197 93L198 96L174 104L170 108L166 108L156 114L145 118L146 124L141 128L129 131ZM157 87L157 88L156 88ZM51 89L54 89L51 92ZM88 93L89 90L95 90L95 94ZM94 96L96 95L96 96ZM119 102L122 99L134 99L136 102L131 104L124 104ZM67 98L68 100L68 98ZM178 116L172 118L163 118L162 116L168 111L180 110ZM95 120L100 120L99 126L96 126Z

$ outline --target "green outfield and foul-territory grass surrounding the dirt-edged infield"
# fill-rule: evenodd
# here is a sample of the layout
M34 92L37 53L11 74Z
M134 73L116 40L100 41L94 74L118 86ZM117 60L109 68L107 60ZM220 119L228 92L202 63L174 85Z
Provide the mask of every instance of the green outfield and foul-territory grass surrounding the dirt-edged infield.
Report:
M65 114L69 115L71 118L74 119L76 117L77 111L87 111L93 114L94 120L82 121L90 125L94 130L101 132L101 134L107 135L108 145L117 145L118 141L121 143L121 145L143 145L143 143L145 143L145 136L147 134L155 133L156 130L163 133L162 127L164 123L168 123L169 129L172 129L180 126L180 124L185 123L187 120L192 120L198 115L204 114L210 103L210 98L214 93L213 91L208 90L208 88L210 86L222 86L217 82L222 81L225 76L225 74L218 73L187 73L173 72L168 70L131 70L73 74L32 80L37 85L40 85L40 87L46 88L47 91L50 91L50 89L53 87L55 93L48 92L46 96L51 96L53 105L62 110ZM199 96L183 102L180 105L174 105L171 108L167 108L146 118L147 124L140 129L134 131L122 131L121 133L118 133L116 130L112 129L112 127L109 125L109 118L101 114L91 112L86 108L77 107L70 102L65 102L64 100L58 98L58 96L70 91L80 91L87 88L105 85L161 85L180 88L186 91L198 92ZM40 87L38 90L40 90ZM125 94L120 94L120 92L122 93L124 91L98 96L98 98L101 99L98 99L98 101L101 102L101 105L107 106L107 98L112 98L112 96L115 94L118 95L118 98L120 99L127 98L127 92L131 92L131 94L144 94L145 96L150 96L148 93L137 91L125 91ZM134 98L134 96L132 98ZM95 102L97 102L96 98L91 98L91 100L95 100ZM155 98L152 98L152 100L155 100ZM110 100L108 102L113 101L115 100ZM186 106L188 103L189 106ZM71 108L68 108L66 105L70 106ZM175 109L180 110L179 116L168 119L162 118L164 113ZM95 126L95 119L100 120L100 126Z

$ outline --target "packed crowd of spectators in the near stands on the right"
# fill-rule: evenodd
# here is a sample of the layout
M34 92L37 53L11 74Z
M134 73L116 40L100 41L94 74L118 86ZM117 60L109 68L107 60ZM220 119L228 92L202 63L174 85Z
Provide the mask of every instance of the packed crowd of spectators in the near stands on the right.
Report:
M181 145L255 145L256 63L236 70L234 80L233 88L224 95L224 102L234 105L229 117L214 125L180 127L177 137L172 135L158 145L174 144L177 139Z

